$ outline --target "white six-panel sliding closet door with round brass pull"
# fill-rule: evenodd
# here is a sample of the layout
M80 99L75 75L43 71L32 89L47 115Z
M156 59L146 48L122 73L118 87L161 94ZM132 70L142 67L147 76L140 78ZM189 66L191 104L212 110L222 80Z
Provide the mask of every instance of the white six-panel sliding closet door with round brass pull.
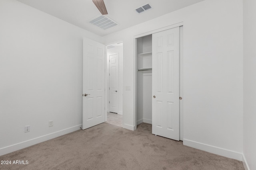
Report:
M152 35L152 133L179 141L179 27Z

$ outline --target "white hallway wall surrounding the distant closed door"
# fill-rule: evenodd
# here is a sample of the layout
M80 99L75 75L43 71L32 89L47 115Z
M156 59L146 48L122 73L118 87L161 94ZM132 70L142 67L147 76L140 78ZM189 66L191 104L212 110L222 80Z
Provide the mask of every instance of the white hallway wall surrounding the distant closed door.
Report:
M118 74L118 114L123 114L123 46L118 46L114 48L110 48L107 50L107 61L109 61L109 56L111 54L118 53L118 66L119 66L119 74ZM109 75L109 62L107 62L107 75ZM109 101L109 76L107 78L107 89L108 89L108 101ZM107 111L109 111L109 104L107 104Z

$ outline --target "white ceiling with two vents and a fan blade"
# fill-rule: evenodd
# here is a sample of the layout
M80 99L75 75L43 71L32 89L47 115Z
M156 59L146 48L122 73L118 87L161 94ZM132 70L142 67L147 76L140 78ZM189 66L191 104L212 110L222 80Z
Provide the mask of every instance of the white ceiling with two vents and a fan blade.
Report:
M118 23L118 25L107 30L103 30L88 23L92 18L101 15L92 0L18 1L92 33L104 36L203 0L104 0L108 11L108 15L106 16ZM140 14L135 11L136 8L148 3L152 9Z

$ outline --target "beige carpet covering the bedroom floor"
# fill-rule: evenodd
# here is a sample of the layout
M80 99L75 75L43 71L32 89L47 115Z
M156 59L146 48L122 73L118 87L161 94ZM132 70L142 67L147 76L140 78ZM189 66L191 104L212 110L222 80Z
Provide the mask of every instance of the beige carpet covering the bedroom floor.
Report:
M28 164L0 165L4 170L243 170L242 162L151 134L142 123L129 131L109 123L79 130L0 156Z

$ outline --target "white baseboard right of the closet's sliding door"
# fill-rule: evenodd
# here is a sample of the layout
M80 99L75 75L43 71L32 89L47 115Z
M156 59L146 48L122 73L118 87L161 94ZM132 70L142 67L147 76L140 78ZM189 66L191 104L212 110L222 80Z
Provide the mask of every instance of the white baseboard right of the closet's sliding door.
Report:
M219 147L214 147L211 145L206 145L203 143L198 143L195 141L190 141L188 139L183 139L183 145L242 161L242 153L234 152L232 150L227 150Z

